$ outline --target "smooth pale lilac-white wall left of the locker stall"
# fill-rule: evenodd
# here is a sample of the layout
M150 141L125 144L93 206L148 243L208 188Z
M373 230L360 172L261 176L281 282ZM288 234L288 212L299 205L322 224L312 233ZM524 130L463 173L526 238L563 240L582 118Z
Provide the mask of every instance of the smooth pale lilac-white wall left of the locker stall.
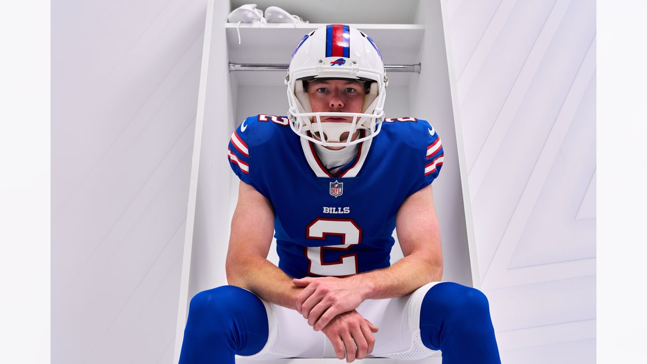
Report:
M52 3L52 363L171 363L206 1Z

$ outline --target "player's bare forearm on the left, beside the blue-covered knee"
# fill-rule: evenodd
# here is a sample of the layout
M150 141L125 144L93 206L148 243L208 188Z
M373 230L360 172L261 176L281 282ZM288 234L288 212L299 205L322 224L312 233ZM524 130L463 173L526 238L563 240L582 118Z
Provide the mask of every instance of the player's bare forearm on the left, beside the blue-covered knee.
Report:
M227 281L254 292L267 302L283 307L294 307L296 295L303 290L294 286L292 278L261 256L249 256L243 261L228 262Z

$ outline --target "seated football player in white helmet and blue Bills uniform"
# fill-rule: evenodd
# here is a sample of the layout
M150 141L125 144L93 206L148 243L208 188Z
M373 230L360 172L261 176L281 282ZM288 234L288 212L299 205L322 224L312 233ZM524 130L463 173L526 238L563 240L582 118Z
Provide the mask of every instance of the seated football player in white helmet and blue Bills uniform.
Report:
M384 118L375 42L347 25L318 28L285 84L287 117L248 117L232 134L230 285L192 298L180 363L436 350L448 363L500 363L485 295L441 281L431 186L441 139L426 120ZM404 258L390 266L395 227Z

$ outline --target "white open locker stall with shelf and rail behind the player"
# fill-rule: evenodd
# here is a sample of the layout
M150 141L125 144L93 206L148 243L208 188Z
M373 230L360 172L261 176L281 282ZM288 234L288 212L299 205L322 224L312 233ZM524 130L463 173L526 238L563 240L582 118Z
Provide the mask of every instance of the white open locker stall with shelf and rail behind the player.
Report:
M285 69L238 71L236 65L287 65L303 34L329 23L345 23L377 43L387 67L386 117L417 117L432 124L445 151L433 182L443 242L443 280L479 286L455 78L446 32L444 3L409 1L255 1L309 20L305 24L227 23L243 1L208 3L199 89L188 218L179 295L175 362L179 359L188 303L199 291L227 284L225 257L238 179L226 157L232 132L245 117L286 115ZM240 42L240 43L239 43ZM253 67L252 67L253 68ZM378 136L379 137L379 136ZM277 159L280 161L280 159ZM388 187L384 193L388 193ZM254 223L250 222L250 229ZM402 258L393 247L391 264ZM277 264L273 242L268 259Z

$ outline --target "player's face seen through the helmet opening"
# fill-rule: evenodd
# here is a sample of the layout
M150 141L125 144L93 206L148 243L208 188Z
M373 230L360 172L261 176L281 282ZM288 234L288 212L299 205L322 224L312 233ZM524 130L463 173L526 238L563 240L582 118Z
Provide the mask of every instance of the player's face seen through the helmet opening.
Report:
M358 81L314 80L308 84L308 96L313 113L361 113L364 95L366 95L364 83ZM353 122L353 117L326 116L321 120L322 122ZM313 118L313 122L317 122L316 118ZM356 131L351 140L355 140L358 135L359 131ZM329 149L339 148L343 147L329 147Z

